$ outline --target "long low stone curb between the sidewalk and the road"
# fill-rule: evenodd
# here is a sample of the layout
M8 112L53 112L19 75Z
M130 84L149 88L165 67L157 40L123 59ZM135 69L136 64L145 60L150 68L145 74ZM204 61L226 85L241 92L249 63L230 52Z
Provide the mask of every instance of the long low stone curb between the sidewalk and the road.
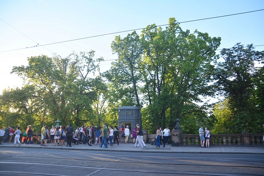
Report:
M111 150L111 149L85 149L85 148L47 148L47 147L34 147L34 146L0 146L0 148L41 148L41 149L56 149L56 150L87 150L87 151L114 151L114 152L130 152L130 153L190 153L190 154L248 154L248 155L264 155L264 153L252 153L252 152L185 152L185 151L161 151L161 150Z

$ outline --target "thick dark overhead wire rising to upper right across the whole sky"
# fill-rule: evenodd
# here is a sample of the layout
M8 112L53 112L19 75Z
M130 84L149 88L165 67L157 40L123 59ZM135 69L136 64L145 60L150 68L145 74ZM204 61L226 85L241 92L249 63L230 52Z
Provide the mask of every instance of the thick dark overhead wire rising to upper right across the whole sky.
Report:
M180 23L188 23L188 22L201 21L201 20L207 20L207 19L213 19L213 18L221 18L221 17L226 17L226 16L240 15L240 14L244 14L244 13L251 13L251 12L262 11L262 10L264 10L264 9L255 10L255 11L249 11L249 12L243 12L243 13L235 13L235 14L231 14L231 15L216 16L216 17L211 17L211 18L203 18L203 19L198 19L198 20L183 21L183 22L177 22L177 23L172 23L172 24L180 24ZM163 25L152 26L152 27L167 26L167 25L172 25L172 24L163 24ZM82 39L86 39L86 38L94 38L94 37L99 37L99 36L104 36L104 35L111 35L111 34L117 34L117 33L129 32L129 31L136 31L136 30L147 29L147 28L152 28L152 27L138 28L138 29L132 29L132 30L127 30L127 31L120 31L120 32L107 33L107 34L101 34L101 35L94 35L94 36L84 37L84 38L77 38L77 39L73 39L73 40L65 40L65 41L61 41L61 42L48 43L48 44L44 44L44 45L36 45L36 46L31 46L31 47L26 47L26 48L7 50L7 51L0 51L0 53L8 52L8 51L15 51L15 50L23 50L23 49L33 48L33 47L38 47L38 46L53 45L53 44L57 44L57 43L70 42L70 41L74 41L74 40L82 40Z

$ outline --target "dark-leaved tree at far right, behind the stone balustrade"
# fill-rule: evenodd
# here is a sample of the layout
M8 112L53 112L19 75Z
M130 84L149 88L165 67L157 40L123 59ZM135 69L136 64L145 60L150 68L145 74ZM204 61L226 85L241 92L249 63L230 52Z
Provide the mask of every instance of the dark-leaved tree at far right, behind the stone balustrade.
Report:
M223 62L217 64L215 74L219 92L229 99L232 133L247 130L261 131L263 120L263 67L255 63L263 62L264 51L255 51L253 44L237 43L230 49L221 50Z

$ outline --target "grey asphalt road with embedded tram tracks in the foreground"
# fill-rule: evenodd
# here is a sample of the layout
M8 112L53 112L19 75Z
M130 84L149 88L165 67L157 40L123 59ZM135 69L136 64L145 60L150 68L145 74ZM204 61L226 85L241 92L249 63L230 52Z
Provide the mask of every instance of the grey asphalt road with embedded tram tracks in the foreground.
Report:
M1 148L0 175L264 175L264 155Z

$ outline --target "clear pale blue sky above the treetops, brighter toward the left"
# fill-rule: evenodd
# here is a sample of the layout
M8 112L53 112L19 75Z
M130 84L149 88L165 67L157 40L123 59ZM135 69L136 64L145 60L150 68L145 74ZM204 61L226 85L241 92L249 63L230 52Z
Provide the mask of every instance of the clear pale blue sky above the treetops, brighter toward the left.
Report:
M13 26L39 45L84 38L118 31L144 28L149 24L163 25L170 17L190 21L234 13L264 9L264 1L0 1L0 19ZM236 43L264 45L264 11L204 21L182 23L183 30L207 32L221 37L221 48ZM0 51L36 45L14 28L0 20ZM131 33L131 32L130 32ZM141 30L137 31L138 34ZM125 37L127 33L119 33ZM22 79L10 75L13 66L27 65L27 57L36 55L63 57L73 50L95 50L96 57L116 59L110 44L115 35L76 40L72 42L0 53L0 92L7 87L21 86ZM50 52L50 51L52 52ZM264 46L256 47L264 50ZM102 62L101 72L111 67L111 61Z

